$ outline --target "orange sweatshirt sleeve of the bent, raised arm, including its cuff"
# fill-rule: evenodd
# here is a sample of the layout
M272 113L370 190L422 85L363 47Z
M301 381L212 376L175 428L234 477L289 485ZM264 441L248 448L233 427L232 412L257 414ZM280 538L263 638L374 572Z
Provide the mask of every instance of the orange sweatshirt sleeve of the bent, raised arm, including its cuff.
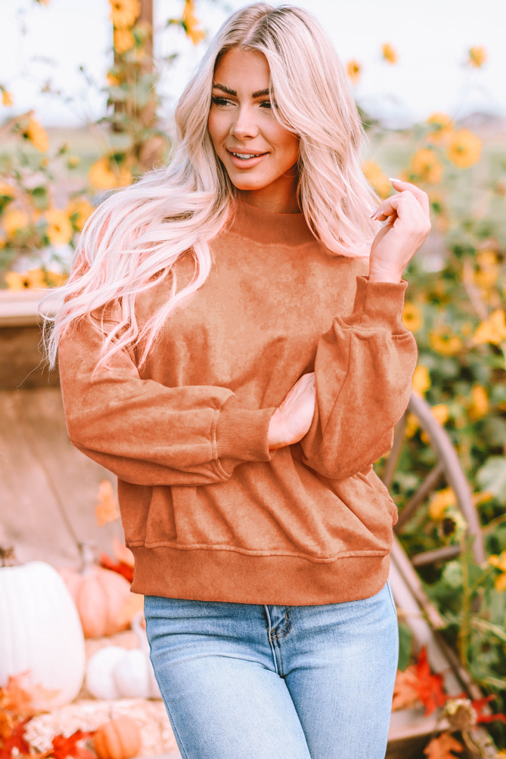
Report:
M303 463L344 480L391 449L410 400L418 350L401 320L408 282L357 276L354 309L319 338L316 404Z

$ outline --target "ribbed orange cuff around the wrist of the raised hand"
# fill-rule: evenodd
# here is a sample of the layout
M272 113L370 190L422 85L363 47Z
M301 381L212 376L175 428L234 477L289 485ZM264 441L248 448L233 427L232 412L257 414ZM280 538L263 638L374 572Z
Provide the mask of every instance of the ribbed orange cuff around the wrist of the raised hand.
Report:
M357 276L354 310L342 321L348 326L366 329L385 327L391 329L394 335L404 335L409 332L401 319L408 284L406 279L401 279L401 282L369 282L368 277Z

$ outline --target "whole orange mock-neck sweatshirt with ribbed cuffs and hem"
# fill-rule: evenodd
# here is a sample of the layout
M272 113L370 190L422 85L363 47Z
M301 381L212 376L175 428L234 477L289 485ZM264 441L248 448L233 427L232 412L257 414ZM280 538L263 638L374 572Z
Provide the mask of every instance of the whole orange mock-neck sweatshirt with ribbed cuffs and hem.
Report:
M209 278L142 370L124 350L92 383L98 317L61 339L68 436L118 476L135 593L369 597L388 578L397 520L372 464L391 449L417 360L401 321L408 283L369 282L367 263L329 254L303 214L234 208L210 242ZM176 266L190 278L190 253ZM169 291L166 279L137 298L140 326ZM273 411L312 371L309 432L269 452Z

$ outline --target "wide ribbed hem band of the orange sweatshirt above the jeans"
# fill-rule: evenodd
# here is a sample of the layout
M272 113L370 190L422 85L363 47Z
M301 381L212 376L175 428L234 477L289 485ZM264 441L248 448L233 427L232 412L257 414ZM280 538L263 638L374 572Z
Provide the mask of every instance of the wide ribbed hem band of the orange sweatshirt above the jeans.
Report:
M133 593L202 601L316 606L369 598L388 579L390 557L250 556L233 550L130 546Z

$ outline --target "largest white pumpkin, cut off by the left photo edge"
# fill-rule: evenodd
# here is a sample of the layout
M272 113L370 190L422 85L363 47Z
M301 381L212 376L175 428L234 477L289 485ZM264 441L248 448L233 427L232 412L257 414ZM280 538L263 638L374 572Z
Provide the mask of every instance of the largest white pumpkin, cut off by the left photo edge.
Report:
M0 686L30 671L33 706L50 710L73 701L84 677L84 635L64 581L46 562L0 567Z

